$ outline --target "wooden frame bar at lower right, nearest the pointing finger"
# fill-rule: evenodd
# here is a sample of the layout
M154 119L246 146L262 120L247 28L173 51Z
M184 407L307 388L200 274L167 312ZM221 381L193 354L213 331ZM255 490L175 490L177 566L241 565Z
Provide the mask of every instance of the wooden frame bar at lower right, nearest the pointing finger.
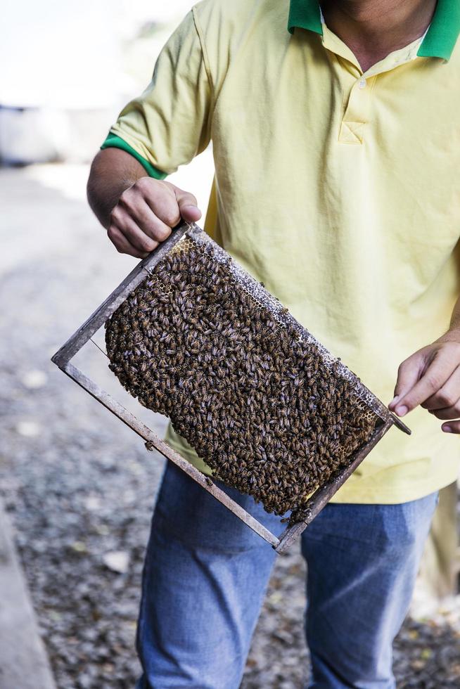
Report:
M331 500L332 496L336 494L340 486L352 475L354 470L362 463L364 458L369 454L371 449L381 440L392 425L395 425L393 418L389 418L385 423L381 424L374 430L370 439L366 444L354 453L354 458L350 465L345 468L343 473L335 475L319 490L315 491L309 501L307 502L308 515L304 520L288 527L279 537L279 545L275 547L276 553L283 553L293 541L297 540L300 534L307 528L314 520L321 510L326 507L326 504Z

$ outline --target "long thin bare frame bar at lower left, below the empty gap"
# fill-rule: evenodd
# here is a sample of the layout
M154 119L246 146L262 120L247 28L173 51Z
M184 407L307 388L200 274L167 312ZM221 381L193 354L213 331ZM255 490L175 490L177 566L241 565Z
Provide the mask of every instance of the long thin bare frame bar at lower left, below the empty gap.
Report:
M238 519L247 524L250 529L258 535L262 536L264 541L270 543L273 548L276 548L279 544L279 539L277 536L272 534L268 529L266 529L263 524L260 524L255 517L250 515L246 510L238 505L234 500L232 500L224 491L222 491L215 484L208 483L209 479L206 479L205 475L202 474L196 467L191 463L186 461L179 453L174 451L164 440L160 439L157 434L155 434L148 426L136 419L127 409L119 404L113 397L105 392L103 389L98 387L95 382L87 378L82 371L73 366L72 363L65 363L65 366L60 367L61 370L66 373L69 378L75 380L80 387L85 389L91 397L97 399L101 402L109 411L111 411L115 416L122 420L127 426L129 426L134 432L143 438L148 444L151 444L162 456L166 457L177 465L181 470L186 472L193 481L200 484L201 487L205 489L208 493L214 496L220 503L222 503L226 508L228 508Z

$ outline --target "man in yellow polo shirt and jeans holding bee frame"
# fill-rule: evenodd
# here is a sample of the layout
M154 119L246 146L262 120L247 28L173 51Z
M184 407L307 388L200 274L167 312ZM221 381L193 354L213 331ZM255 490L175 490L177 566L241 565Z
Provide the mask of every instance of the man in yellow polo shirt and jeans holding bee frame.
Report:
M459 31L458 0L205 0L91 169L108 237L144 257L181 217L200 218L162 180L212 139L207 231L373 392L394 395L390 409L411 412L413 435L389 432L302 537L315 688L395 686L392 640L437 491L458 471ZM171 428L167 439L206 470ZM168 467L139 688L236 689L273 560Z

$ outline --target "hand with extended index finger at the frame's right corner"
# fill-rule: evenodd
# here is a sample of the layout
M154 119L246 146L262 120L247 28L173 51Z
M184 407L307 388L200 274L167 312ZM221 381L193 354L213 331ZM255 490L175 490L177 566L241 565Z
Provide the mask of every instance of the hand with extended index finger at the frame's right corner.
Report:
M445 433L460 433L460 330L419 349L397 372L395 398L388 408L405 416L423 406L442 424Z

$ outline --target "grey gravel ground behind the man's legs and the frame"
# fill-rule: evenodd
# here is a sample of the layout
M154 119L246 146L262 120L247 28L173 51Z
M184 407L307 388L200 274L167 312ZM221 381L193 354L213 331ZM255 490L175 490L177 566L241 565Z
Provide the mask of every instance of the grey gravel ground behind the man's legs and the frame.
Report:
M163 464L49 363L132 265L108 250L96 228L82 200L84 174L65 166L0 172L7 249L0 488L58 689L129 689L139 673L141 565ZM78 363L103 387L120 390L95 347ZM154 423L162 432L164 420ZM304 581L293 548L271 577L244 689L302 688ZM423 622L407 621L395 671L401 688L460 687L458 601Z

